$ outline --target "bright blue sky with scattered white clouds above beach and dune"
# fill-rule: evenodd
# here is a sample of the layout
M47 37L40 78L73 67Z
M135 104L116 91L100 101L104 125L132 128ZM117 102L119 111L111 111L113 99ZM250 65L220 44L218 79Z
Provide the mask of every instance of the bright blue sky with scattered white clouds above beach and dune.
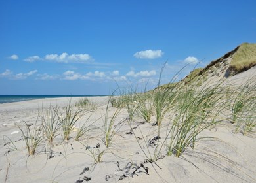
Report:
M256 1L0 1L0 94L110 94L256 42ZM115 82L116 81L116 82Z

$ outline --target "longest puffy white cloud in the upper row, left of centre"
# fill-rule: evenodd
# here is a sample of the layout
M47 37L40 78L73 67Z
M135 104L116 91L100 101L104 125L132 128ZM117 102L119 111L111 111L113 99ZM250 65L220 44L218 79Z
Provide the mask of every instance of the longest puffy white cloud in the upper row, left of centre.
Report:
M67 53L62 53L60 55L58 55L58 54L47 54L45 56L45 59L50 60L50 61L64 62L64 63L68 63L70 61L86 62L86 61L91 60L91 56L89 56L89 54L68 55Z

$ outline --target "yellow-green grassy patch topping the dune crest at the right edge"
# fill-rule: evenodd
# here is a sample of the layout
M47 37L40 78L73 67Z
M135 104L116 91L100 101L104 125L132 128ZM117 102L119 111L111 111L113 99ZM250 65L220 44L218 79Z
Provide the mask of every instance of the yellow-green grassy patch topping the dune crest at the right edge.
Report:
M232 56L230 71L241 73L256 65L256 44L241 44Z

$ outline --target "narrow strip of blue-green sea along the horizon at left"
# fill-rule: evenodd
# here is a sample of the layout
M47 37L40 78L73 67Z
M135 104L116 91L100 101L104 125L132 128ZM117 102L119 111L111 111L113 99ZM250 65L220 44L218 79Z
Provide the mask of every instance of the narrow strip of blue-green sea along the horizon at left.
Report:
M59 97L98 97L108 95L0 95L0 103L14 103L34 99L59 98Z

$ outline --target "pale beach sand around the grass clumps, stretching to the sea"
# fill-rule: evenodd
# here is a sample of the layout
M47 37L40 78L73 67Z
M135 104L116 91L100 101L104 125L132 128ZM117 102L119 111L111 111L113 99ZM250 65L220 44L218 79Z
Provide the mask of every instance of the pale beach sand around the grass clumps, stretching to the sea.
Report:
M79 97L72 98L71 105ZM61 110L70 98L37 99L0 105L1 182L255 182L255 136L233 133L232 124L223 123L205 129L194 148L181 156L167 156L165 146L157 161L150 162L156 146L146 146L158 134L158 127L141 118L129 122L125 108L118 110L114 125L116 132L110 146L104 144L104 118L108 97L88 97L96 103L95 111L87 111L75 124L70 138L63 140L61 130L54 142L47 141L28 156L22 133L16 126L22 121L33 129L41 122L43 110L58 105ZM117 108L108 107L108 116ZM39 112L39 114L38 114ZM39 116L39 118L37 118ZM90 118L89 118L90 116ZM95 128L75 140L77 129L87 121ZM154 121L154 120L152 120ZM24 124L23 124L24 125ZM89 125L89 126L90 126ZM166 133L167 122L161 127ZM163 137L162 136L162 137ZM145 143L144 143L144 142ZM160 140L163 142L163 139ZM12 144L13 142L13 144ZM139 144L142 144L141 146ZM14 148L15 145L15 148ZM158 146L158 145L157 145ZM144 154L146 152L146 154ZM148 156L150 156L148 154Z

